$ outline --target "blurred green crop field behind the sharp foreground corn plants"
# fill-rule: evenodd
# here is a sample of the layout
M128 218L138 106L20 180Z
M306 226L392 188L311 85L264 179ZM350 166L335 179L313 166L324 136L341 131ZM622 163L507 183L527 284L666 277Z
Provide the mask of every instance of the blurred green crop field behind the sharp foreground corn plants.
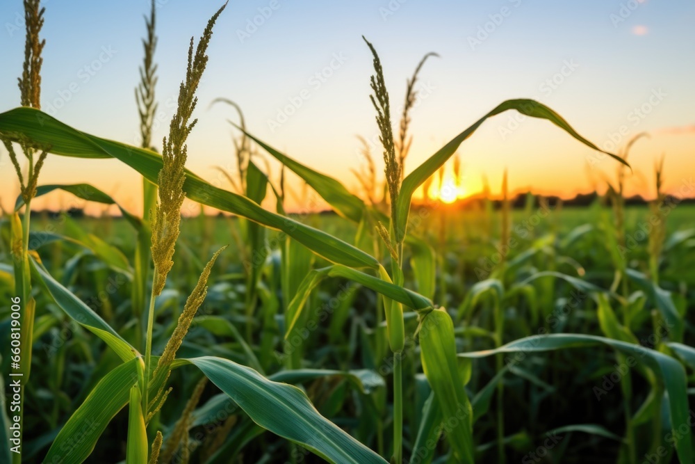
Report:
M457 321L455 333L459 353L493 349L496 345L545 333L545 330L548 333L610 338L610 328L605 321L602 323L603 314L596 300L599 292L610 289L614 280L615 265L605 243L605 227L610 225L606 221L612 217L612 211L605 205L559 211L551 208L547 215L543 211L537 204L526 211L512 211L512 239L516 238L516 242L509 243L518 244L505 254L507 267L503 273L500 273L498 264L493 264L490 270L490 263L498 259L497 253L503 249L500 243L502 211L432 211L422 234L437 250L434 296L436 301L445 302ZM687 310L686 302L692 301L693 297L692 290L689 290L695 280L692 271L695 232L690 220L693 213L691 205L680 205L671 210L667 216L667 246L660 262L663 270L660 285L673 292L670 298L679 311ZM639 239L638 231L644 229L649 216L646 207L626 209L628 237ZM345 241L354 240L357 227L337 216L299 217ZM9 230L5 224L3 242L7 243ZM440 225L445 227L444 237ZM230 230L239 226L234 218L213 216L182 221L177 264L172 269L161 303L158 303L154 352L163 349L174 328L183 301L204 266L201 257L230 243ZM91 233L103 239L113 250L125 256L133 255L133 243L136 243L133 227L123 218L73 220L40 216L34 218L33 227L36 240L47 234L47 230L56 237L65 237L51 237L37 247L51 275L101 314L109 325L122 328L120 333L126 339L135 340L133 328L136 324L130 303L129 279L124 277L124 272L109 266L99 253L80 242L85 237L83 234ZM272 243L282 243L282 240L271 233L268 243L272 246ZM393 361L384 351L385 346L381 346L381 353L377 351L379 331L375 328L379 317L375 293L341 278L321 282L306 305L305 327L313 330L310 329L306 338L300 337L297 346L285 344L281 337L285 330L282 308L287 302L281 288L281 250L275 247L261 266L259 288L263 291L263 298L253 315L249 341L239 333L247 326L245 269L239 255L240 251L232 241L218 259L215 277L209 281L206 303L199 309L178 355L181 358L216 355L242 365L255 366L271 375L286 372L287 356L296 356L294 353L298 351L301 355L297 356L299 365L295 369L318 369L313 371L315 374L306 374L306 378L297 379L297 382L303 385L320 413L380 454L388 454L392 414L388 391ZM3 262L10 259L8 250L4 248ZM635 246L628 248L626 262L635 271L648 273L646 239L638 240ZM322 259L313 262L314 268L328 265L329 262ZM404 287L418 289L420 284L411 265L404 266ZM492 275L489 276L479 274L490 271ZM559 274L536 277L546 271ZM635 279L628 283L628 301L639 308L634 310L630 333L634 333L644 346L665 348L672 335L660 319L658 301L650 296L648 285L645 287L637 272ZM580 282L568 282L564 278L575 278ZM11 279L4 281L9 284ZM586 291L582 287L584 282L597 287ZM3 286L3 298L10 298L11 288ZM324 312L331 308L336 296L336 307L326 316ZM471 303L472 296L477 299L475 304ZM27 423L31 432L26 439L28 447L33 450L25 456L28 462L38 462L65 418L85 401L104 373L120 365L120 360L109 353L106 345L88 330L76 326L50 298L38 296L38 305L44 308L44 314L35 323L34 380L27 392L32 400L26 414L32 419ZM494 317L496 305L500 305L502 314L501 330ZM621 306L616 301L612 301L612 306L621 314ZM7 311L1 316L9 320ZM414 333L416 319L407 317L406 320L406 332ZM687 321L685 317L683 320ZM238 330L230 329L229 323ZM8 323L3 326L3 331L8 330ZM499 342L495 339L498 331L502 337ZM685 331L687 339L692 337L691 323L686 322ZM474 401L484 392L490 395L486 398L487 403L480 406L480 419L473 429L476 461L489 462L497 458L495 441L500 414L504 417L505 454L510 462L525 459L523 462L579 463L591 459L599 463L614 463L624 458L621 456L626 453L625 408L630 408L631 415L641 412L653 389L659 387L658 383L654 383L649 371L639 367L630 367L624 374L622 369L628 365L628 358L620 353L605 346L578 345L561 351L530 353L522 360L516 360L514 354L505 355L501 370L494 357L473 360L466 390ZM406 344L403 356L404 444L406 454L410 455L416 451L414 444L423 440L420 427L423 414L427 413L423 406L430 387L423 374L418 374L421 369L419 346L412 342ZM332 371L358 373L360 377L329 374ZM502 375L498 375L500 373ZM157 420L162 426L176 422L197 380L192 367L174 371L169 382L177 387L172 390L167 403L180 406L172 406L161 413ZM630 399L626 401L622 389L628 382L631 391ZM491 394L491 385L504 386L501 401ZM192 413L195 419L190 426L190 438L195 443L193 448L198 449L194 456L202 455L205 449L209 449L213 441L211 437L218 438L224 431L227 436L220 439L217 457L213 456L206 462L236 462L240 459L243 462L263 459L275 462L281 459L279 456L293 454L302 456L298 458L300 462L313 461L300 449L272 435L239 441L235 433L237 428L247 433L256 430L252 434L254 437L260 429L256 429L250 418L236 407L230 406L233 404L231 400L223 400L215 390L207 387ZM228 424L229 417L235 418L235 425L227 431L224 424ZM654 431L656 426L667 431L668 422L661 413L657 418L659 422L656 424L654 419L644 419L632 430L640 456L649 455L649 451L658 450L658 446L669 445L664 435ZM121 431L127 429L127 422L127 411L122 410L104 431L90 459L108 460L108 456L122 453L126 435ZM443 434L446 435L445 429ZM446 441L434 440L434 454L445 456ZM672 455L671 448L669 456Z

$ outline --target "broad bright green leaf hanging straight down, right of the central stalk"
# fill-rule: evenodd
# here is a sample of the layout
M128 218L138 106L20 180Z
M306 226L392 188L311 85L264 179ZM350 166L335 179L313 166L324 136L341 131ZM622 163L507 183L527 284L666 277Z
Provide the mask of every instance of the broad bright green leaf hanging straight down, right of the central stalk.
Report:
M433 310L425 316L420 327L420 355L443 422L455 424L446 438L456 461L473 464L473 409L459 375L454 324L445 310Z

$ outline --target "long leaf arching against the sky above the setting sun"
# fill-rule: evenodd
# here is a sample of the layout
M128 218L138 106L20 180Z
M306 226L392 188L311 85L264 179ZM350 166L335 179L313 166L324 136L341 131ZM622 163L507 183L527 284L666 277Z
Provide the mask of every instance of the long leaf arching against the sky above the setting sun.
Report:
M510 109L515 109L519 113L525 114L532 118L546 119L550 122L553 122L553 124L555 124L557 127L563 129L569 135L573 136L575 139L577 139L584 145L587 145L587 147L590 147L594 150L598 150L599 152L603 152L608 156L625 164L626 166L630 166L628 165L628 163L626 163L626 161L624 161L620 157L616 156L615 154L600 150L600 148L598 148L596 145L589 142L586 138L580 136L562 118L562 116L555 113L555 111L548 108L548 106L545 106L539 102L535 102L531 99L507 100L506 102L500 103L495 109L484 115L482 118L480 118L480 120L477 120L477 122L475 122L474 125L468 127L468 129L466 129L465 131L461 132L461 134L453 138L449 143L444 145L438 152L433 154L432 157L430 157L430 159L427 159L427 161L422 163L420 166L418 166L418 168L416 168L416 170L414 170L412 173L407 175L407 177L405 177L400 189L400 193L398 195L398 202L396 204L396 221L398 221L398 223L395 224L394 228L397 241L400 242L405 237L405 231L407 230L408 225L408 214L410 212L411 198L413 197L413 194L418 189L418 187L422 185L428 177L436 173L436 170L438 170L452 156L452 154L456 152L459 145L461 145L461 143L463 143L466 140L466 138L470 137L473 134L473 132L475 132L475 130L478 127L480 127L480 125L482 125L483 122L485 122L486 119Z

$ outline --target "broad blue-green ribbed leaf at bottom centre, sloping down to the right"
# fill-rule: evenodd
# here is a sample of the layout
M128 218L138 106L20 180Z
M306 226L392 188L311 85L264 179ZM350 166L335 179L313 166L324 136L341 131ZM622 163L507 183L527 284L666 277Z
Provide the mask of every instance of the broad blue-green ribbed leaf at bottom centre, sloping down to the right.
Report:
M374 451L320 415L297 387L269 381L249 367L204 356L189 360L251 419L331 463L385 463Z

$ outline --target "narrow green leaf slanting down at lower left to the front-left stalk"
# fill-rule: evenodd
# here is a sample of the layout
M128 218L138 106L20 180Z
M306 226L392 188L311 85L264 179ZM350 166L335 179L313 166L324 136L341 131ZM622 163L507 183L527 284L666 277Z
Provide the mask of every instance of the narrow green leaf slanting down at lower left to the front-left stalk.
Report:
M79 323L81 326L97 335L97 337L104 340L122 360L129 361L140 355L140 353L138 353L131 344L126 342L123 337L118 335L104 319L101 319L99 314L74 296L70 290L60 285L43 266L33 259L31 259L31 269L34 278L47 290L58 307L60 307L70 319L76 321L76 323Z

